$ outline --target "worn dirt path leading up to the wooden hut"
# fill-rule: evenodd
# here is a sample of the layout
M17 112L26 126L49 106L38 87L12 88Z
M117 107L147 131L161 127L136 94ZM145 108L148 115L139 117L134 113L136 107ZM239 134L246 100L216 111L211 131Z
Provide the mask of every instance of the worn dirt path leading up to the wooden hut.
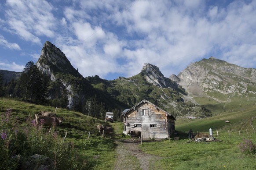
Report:
M150 170L150 163L161 159L160 157L143 153L138 147L140 142L132 142L132 139L116 140L115 142L118 155L115 170Z

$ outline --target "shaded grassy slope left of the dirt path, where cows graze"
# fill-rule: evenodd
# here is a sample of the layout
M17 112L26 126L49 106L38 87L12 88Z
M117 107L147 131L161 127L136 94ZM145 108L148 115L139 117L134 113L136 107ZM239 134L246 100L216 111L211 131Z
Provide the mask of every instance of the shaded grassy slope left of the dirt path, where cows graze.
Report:
M11 109L11 113L8 115L8 118L6 118L7 109ZM63 124L61 126L57 126L53 132L48 132L49 127L43 127L41 129L33 126L32 120L34 119L35 113L39 113L40 111L55 112L55 110L57 115L59 117L65 117L65 120ZM6 150L6 159L3 158L4 160L2 160L2 157L0 156L1 168L3 168L4 165L15 165L15 163L11 161L11 157L9 157L9 154L14 152L16 152L16 154L20 154L22 160L26 159L25 157L27 156L31 156L31 154L42 154L55 161L55 157L53 157L54 155L50 152L52 150L50 145L48 145L48 149L46 149L48 150L47 152L41 152L40 150L35 149L41 147L44 148L44 145L50 142L52 143L52 147L59 148L58 145L62 145L63 147L69 147L71 151L73 150L72 152L70 151L70 153L65 153L68 154L65 156L66 159L69 159L69 156L73 156L70 158L73 159L72 163L69 163L70 165L65 164L66 166L70 166L69 168L71 169L74 167L76 167L75 169L106 169L106 167L113 169L114 164L109 162L107 159L114 160L116 157L114 142L109 137L102 138L102 135L99 133L97 128L98 124L110 126L110 124L107 124L103 120L65 109L56 109L53 107L24 103L10 99L0 99L0 116L3 120L6 120L0 122L1 135L7 134L6 140L0 140L0 148L2 146L4 147L5 144L1 142L5 141L9 146ZM113 123L111 125L115 127L115 134L122 136L122 124ZM20 135L18 136L23 136L22 139L20 139L20 137L11 138L11 136L15 135L13 129L16 129L15 131L19 131ZM27 136L26 133L29 133L30 137ZM52 135L52 137L49 135ZM57 138L55 138L56 135L58 135ZM63 143L65 135L66 144ZM119 138L119 136L116 135L115 138ZM8 142L8 140L10 141ZM41 143L40 141L44 143ZM16 143L18 145L16 145ZM22 151L24 149L21 149L21 146L25 147L25 143L27 143L25 149L26 153ZM70 146L67 145L67 143L69 143ZM65 147L63 149L64 150L62 151L58 151L58 153L61 154L64 152ZM65 157L59 158L58 160L66 161ZM66 161L66 163L68 162ZM61 168L62 166L57 167L57 169Z

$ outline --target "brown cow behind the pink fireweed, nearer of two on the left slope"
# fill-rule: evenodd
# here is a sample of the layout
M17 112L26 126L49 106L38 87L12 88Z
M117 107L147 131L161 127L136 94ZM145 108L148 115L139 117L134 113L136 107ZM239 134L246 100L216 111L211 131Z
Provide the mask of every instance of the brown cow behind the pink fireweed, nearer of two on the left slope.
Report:
M36 116L36 122L38 124L43 124L44 126L52 126L54 124L60 125L62 123L62 120L64 120L63 117L46 117L42 115Z

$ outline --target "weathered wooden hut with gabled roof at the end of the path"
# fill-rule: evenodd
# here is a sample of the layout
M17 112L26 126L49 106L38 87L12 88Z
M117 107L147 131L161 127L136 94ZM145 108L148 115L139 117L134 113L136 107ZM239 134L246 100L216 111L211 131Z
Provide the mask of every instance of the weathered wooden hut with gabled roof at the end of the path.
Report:
M147 100L126 109L124 117L124 134L129 130L142 131L143 140L169 138L175 132L175 117Z

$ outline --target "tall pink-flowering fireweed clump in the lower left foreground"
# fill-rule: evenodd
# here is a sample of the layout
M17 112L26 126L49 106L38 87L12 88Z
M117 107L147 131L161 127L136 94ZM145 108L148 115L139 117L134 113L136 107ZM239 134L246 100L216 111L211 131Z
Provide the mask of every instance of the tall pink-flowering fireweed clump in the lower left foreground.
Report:
M51 132L45 132L40 122L37 126L34 120L27 120L27 126L20 126L17 117L11 117L11 109L0 114L0 169L24 169L25 163L34 154L49 157L55 170L84 169L86 165L78 161L74 144L66 142L51 127ZM39 164L40 166L40 164Z

